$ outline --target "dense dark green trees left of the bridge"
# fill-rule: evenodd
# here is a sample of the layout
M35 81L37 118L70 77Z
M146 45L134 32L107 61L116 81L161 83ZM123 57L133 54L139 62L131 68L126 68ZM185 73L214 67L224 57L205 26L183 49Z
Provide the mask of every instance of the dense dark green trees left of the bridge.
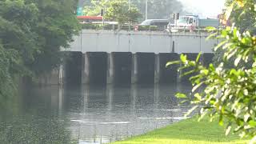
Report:
M0 2L0 97L12 93L17 76L34 76L61 62L79 25L75 1Z

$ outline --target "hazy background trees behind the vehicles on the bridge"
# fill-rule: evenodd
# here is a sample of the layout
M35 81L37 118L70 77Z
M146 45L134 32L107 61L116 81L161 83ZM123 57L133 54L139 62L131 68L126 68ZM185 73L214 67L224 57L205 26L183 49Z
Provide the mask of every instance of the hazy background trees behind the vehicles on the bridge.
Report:
M116 12L122 11L122 15L126 15L129 10L128 0L91 0L84 2L86 6L84 8L85 15L99 15L101 9L106 9L106 14L110 12L110 18L116 18L118 16L114 16L117 14ZM113 9L114 4L122 3L123 6L118 6L118 9ZM112 6L112 8L108 8L108 6ZM116 7L115 7L116 8ZM137 12L138 11L138 12ZM136 19L138 21L145 20L145 11L146 11L146 0L131 0L131 9L130 14L134 15L130 16L130 19ZM113 13L112 13L113 12ZM138 15L138 13L142 15ZM148 18L161 19L161 18L171 18L171 14L181 13L185 14L186 12L183 10L183 6L181 2L177 0L148 0ZM119 14L119 15L121 15Z

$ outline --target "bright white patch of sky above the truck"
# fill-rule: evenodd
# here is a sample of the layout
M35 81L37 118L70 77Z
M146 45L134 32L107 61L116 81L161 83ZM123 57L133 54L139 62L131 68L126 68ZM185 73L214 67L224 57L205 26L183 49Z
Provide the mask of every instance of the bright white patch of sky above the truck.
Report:
M225 0L178 0L182 2L184 10L198 14L203 18L216 17L222 12Z

